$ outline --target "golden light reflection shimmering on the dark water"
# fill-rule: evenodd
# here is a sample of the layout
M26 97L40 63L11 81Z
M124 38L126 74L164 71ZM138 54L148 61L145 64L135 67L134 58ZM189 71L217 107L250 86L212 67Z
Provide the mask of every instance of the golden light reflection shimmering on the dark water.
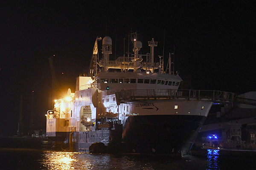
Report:
M116 169L132 164L132 161L123 161L109 154L89 154L72 152L46 151L41 163L47 170L91 170ZM125 169L125 168L122 168Z

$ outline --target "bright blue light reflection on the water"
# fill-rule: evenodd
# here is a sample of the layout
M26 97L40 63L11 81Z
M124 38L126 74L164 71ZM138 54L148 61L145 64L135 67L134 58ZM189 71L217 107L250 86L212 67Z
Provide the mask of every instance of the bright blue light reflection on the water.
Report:
M207 150L208 168L206 170L220 170L218 166L219 151L220 150L215 150L215 149Z

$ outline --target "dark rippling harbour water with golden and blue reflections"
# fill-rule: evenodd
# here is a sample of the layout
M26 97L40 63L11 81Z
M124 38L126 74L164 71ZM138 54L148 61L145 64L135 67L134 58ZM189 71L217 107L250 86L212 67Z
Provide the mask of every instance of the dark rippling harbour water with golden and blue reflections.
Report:
M201 150L182 158L0 149L0 170L251 170L256 151Z

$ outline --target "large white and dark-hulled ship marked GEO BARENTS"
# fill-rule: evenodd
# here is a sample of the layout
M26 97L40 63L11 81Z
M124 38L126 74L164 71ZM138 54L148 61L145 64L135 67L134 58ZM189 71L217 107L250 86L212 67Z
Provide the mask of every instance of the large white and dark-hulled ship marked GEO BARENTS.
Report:
M223 91L179 89L182 79L172 69L171 54L164 70L163 56L154 57L157 41L148 41L150 53L140 54L142 42L137 38L137 33L129 35L133 54L115 60L110 60L111 37L96 38L90 75L77 77L75 93L68 89L47 111L46 135L55 146L66 144L79 152L184 156L212 104L235 97Z

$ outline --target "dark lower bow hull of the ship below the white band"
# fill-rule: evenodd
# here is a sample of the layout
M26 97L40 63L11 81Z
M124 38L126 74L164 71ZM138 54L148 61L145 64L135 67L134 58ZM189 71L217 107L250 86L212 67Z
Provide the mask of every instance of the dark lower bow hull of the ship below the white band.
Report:
M125 153L188 154L205 116L129 116L122 132Z

